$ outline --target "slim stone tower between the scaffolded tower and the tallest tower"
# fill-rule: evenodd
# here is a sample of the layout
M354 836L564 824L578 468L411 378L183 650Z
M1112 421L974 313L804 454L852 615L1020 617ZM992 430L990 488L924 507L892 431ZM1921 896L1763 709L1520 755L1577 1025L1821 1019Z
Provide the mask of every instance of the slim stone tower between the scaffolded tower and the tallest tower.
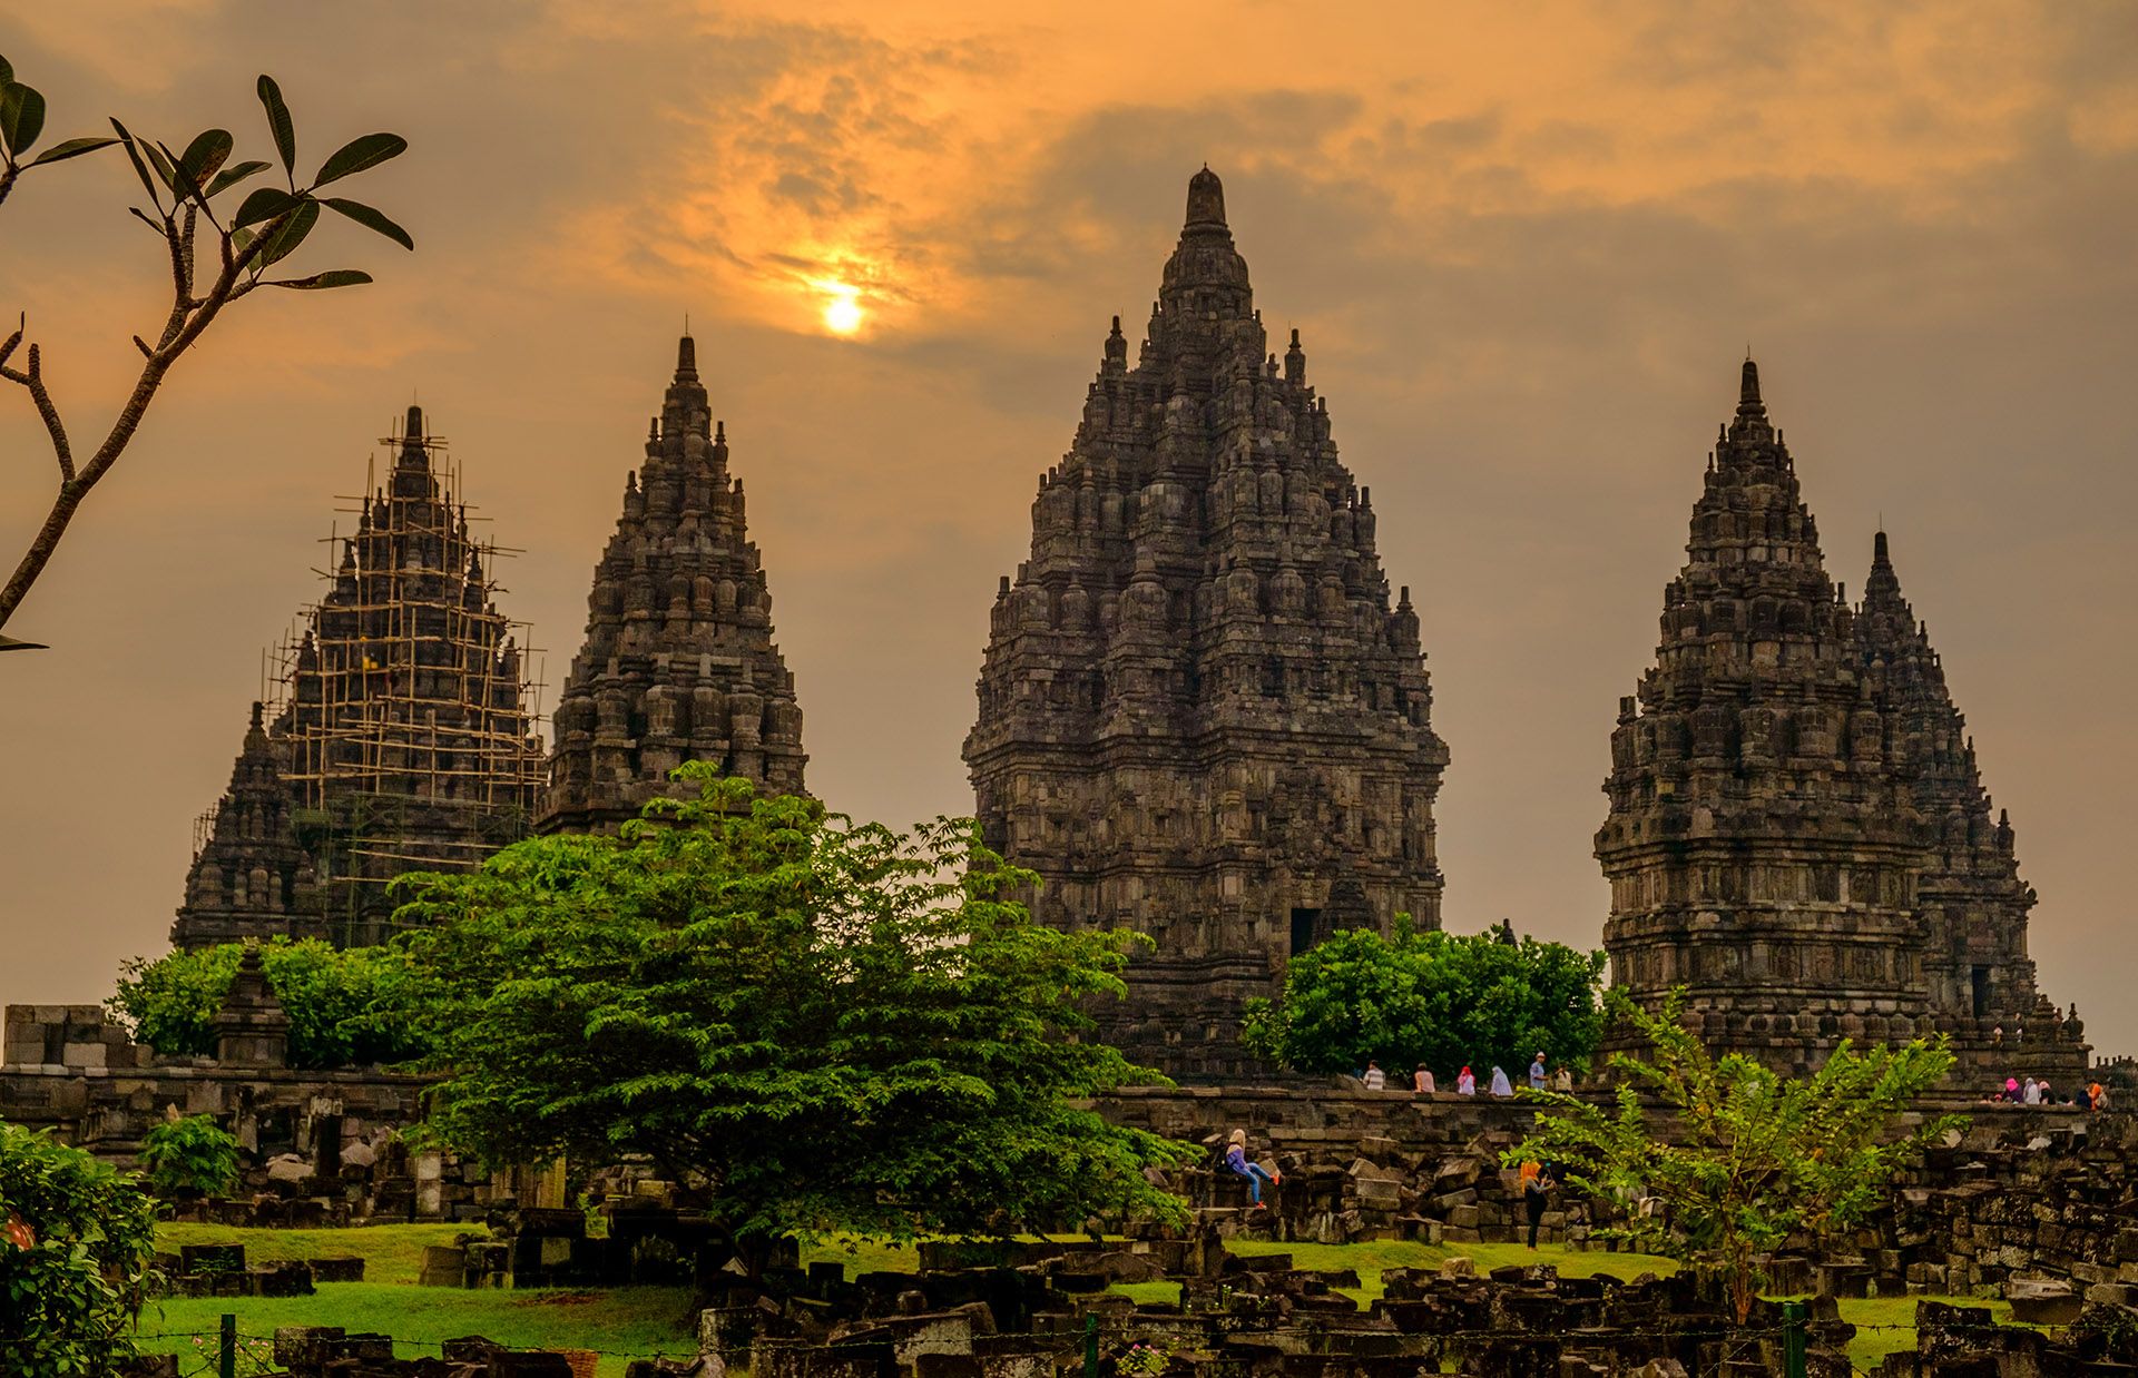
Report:
M684 761L802 793L802 709L772 641L772 594L748 538L727 425L684 335L646 464L594 566L586 645L556 705L541 831L635 818Z

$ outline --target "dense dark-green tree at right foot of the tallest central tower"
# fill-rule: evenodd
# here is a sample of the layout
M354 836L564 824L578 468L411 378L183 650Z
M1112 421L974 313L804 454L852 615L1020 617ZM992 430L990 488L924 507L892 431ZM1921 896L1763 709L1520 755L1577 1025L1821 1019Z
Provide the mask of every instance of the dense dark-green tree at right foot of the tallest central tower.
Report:
M1411 1066L1447 1079L1503 1066L1522 1077L1544 1049L1586 1066L1597 1047L1604 953L1492 934L1345 929L1291 959L1276 1000L1251 1000L1249 1051L1302 1072L1349 1072L1379 1060L1390 1079ZM1452 1085L1447 1090L1454 1090Z

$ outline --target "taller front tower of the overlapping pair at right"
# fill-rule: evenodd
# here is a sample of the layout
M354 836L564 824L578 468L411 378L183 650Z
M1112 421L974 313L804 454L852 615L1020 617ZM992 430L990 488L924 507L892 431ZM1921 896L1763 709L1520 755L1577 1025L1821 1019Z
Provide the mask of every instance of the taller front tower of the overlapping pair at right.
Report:
M1710 1047L1790 1070L1909 1038L1931 1015L1922 814L1751 359L1685 551L1612 733L1612 981L1648 1004L1685 985Z

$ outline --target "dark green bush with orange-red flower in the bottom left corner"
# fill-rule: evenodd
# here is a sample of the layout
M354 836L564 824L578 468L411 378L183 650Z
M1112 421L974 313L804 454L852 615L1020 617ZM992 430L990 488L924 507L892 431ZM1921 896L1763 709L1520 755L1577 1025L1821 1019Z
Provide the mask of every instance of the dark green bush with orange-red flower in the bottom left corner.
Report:
M0 1122L0 1374L103 1378L133 1357L154 1254L139 1177Z

